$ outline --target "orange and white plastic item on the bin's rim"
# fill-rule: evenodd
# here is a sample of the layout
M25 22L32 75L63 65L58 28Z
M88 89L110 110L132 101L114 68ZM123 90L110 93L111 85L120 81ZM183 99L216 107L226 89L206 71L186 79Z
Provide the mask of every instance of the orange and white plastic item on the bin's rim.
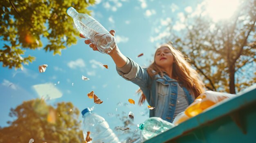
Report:
M216 91L206 91L200 94L195 101L189 105L185 110L185 114L188 117L194 117L216 103L233 97L236 97L236 95Z

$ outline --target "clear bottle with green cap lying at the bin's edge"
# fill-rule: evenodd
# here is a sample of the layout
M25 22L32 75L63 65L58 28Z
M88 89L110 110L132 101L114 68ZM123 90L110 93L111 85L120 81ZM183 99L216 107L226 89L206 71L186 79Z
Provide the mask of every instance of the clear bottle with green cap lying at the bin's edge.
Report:
M139 125L139 129L141 130L141 142L151 139L173 127L175 127L175 125L159 117L150 117Z

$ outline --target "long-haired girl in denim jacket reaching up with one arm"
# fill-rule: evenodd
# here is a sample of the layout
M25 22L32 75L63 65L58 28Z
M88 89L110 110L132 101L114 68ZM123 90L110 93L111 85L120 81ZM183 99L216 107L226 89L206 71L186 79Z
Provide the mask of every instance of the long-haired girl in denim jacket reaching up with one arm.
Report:
M114 30L110 33L115 35ZM98 51L90 40L85 40L85 44ZM160 117L172 123L177 114L204 92L198 73L186 62L182 53L169 44L157 48L154 62L148 68L141 68L124 56L117 45L108 55L114 60L118 74L140 87L142 94L139 102L143 103L146 99L150 106L155 107L150 110L149 117Z

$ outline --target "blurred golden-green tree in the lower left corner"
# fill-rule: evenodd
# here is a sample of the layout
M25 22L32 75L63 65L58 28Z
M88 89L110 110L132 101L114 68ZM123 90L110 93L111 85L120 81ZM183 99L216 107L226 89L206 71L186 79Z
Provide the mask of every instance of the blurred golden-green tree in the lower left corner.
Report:
M79 110L72 103L58 103L54 108L41 99L24 101L11 109L9 127L0 128L1 143L82 143Z

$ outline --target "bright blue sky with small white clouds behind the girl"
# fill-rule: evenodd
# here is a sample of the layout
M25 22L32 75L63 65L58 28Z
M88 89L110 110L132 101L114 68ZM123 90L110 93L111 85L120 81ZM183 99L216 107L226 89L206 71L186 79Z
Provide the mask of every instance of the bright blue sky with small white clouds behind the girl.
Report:
M196 14L202 2L101 0L89 9L93 11L92 16L108 31L116 31L115 38L121 52L146 67L150 60L153 60L155 47L171 35L167 26L172 24L174 31L178 33L184 28L184 14ZM72 21L70 24L73 24ZM43 49L27 50L25 54L35 56L36 61L24 65L23 70L3 68L0 63L1 127L6 126L8 120L13 120L8 116L10 108L16 108L23 101L40 98L45 94L51 97L47 102L52 105L70 101L80 111L94 107L94 112L104 117L112 129L123 125L117 114L128 116L132 111L135 114L135 124L142 123L148 118L148 103L145 102L143 106L137 105L139 96L135 95L135 91L139 87L117 74L115 64L109 55L92 51L79 35L77 39L77 44L62 50L61 56L53 56L52 52L45 52ZM47 40L43 40L43 46L46 44ZM2 45L0 42L0 47ZM144 55L137 57L140 53ZM99 62L108 65L109 69L101 66ZM38 66L42 64L48 65L45 73L38 71ZM83 81L82 75L90 80ZM36 91L42 87L45 89L44 92ZM103 101L102 104L95 104L87 97L92 90ZM130 98L135 100L135 105L128 103ZM82 120L82 117L79 119Z

